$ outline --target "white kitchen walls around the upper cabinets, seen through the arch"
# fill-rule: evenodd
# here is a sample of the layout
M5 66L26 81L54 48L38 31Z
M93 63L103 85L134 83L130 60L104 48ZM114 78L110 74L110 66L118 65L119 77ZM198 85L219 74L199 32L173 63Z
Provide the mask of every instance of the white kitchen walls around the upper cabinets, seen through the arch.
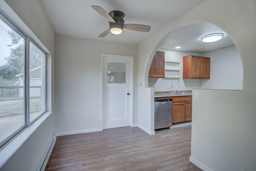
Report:
M163 49L158 49L158 51L165 52L166 61L180 62L180 79L148 78L148 86L154 87L154 91L170 91L170 84L174 86L174 90L177 88L180 90L192 90L198 88L242 90L243 66L236 46L202 54ZM197 55L211 58L210 80L182 79L183 56L187 55ZM168 63L166 65L168 65ZM166 72L166 74L168 73Z

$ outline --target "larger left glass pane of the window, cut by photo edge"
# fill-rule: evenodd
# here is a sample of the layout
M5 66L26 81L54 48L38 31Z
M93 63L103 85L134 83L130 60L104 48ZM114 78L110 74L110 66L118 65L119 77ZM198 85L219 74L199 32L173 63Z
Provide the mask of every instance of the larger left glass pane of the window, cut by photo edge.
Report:
M25 38L0 19L0 146L25 126Z

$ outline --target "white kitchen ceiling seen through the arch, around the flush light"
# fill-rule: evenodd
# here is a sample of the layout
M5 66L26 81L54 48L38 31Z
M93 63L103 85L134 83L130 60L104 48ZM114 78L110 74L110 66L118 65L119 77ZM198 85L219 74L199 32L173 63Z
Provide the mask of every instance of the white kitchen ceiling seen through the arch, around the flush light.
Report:
M222 40L212 43L201 41L203 36L212 33L224 34ZM205 53L213 50L234 46L234 42L228 34L218 26L210 23L197 23L176 28L170 32L169 36L163 40L160 49L177 50L175 47L180 46L178 51Z

